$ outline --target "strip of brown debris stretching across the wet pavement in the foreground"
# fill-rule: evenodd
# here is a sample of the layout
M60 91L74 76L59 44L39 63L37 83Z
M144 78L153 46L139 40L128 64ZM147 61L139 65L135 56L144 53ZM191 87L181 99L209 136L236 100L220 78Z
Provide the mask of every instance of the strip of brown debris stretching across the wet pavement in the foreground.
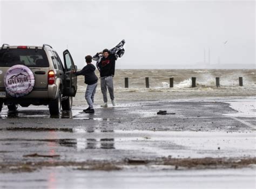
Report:
M124 161L38 161L38 162L26 162L26 163L0 163L0 173L3 172L33 172L43 167L70 167L74 170L97 170L97 171L116 171L122 170L124 167L130 166L147 166L156 167L164 165L170 166L170 170L187 170L196 169L203 170L206 168L242 168L242 167L254 167L256 164L256 158L171 158L163 157L151 160L145 159L125 159ZM131 168L130 167L130 168Z

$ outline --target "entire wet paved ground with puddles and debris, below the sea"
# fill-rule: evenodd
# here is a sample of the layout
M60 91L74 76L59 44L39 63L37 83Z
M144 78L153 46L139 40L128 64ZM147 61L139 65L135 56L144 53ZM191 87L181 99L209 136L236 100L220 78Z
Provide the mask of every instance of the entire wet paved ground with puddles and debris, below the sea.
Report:
M50 117L46 106L4 107L0 187L255 188L254 97L83 109L75 100Z

